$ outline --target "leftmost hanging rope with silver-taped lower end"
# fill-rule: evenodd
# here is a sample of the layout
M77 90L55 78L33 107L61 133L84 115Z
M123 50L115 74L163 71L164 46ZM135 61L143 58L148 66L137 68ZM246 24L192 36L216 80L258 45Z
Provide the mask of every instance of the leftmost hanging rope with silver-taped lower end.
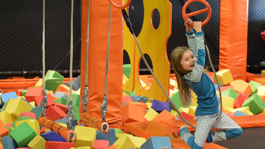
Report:
M47 94L45 89L45 0L43 0L43 17L42 17L42 100L41 100L41 113L42 117L45 116L45 108L48 104Z

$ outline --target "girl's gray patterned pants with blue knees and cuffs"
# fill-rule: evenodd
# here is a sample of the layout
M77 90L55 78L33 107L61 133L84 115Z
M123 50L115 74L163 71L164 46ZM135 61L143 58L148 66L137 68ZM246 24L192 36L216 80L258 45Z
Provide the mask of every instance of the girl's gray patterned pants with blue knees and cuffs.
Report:
M225 113L222 113L219 124L215 127L221 131L217 132L216 130L213 130L210 132L218 116L219 113L214 115L197 116L197 127L194 136L186 129L180 134L181 140L188 143L189 147L192 149L202 149L206 139L208 140L208 143L214 143L216 141L237 138L242 134L242 128Z

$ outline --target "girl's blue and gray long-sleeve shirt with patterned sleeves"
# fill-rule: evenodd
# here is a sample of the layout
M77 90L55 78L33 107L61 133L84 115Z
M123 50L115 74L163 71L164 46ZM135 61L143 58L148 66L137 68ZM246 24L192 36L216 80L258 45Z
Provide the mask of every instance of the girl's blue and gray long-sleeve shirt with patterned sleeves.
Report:
M219 101L216 95L214 83L210 77L203 74L205 65L205 46L203 32L186 31L189 49L192 50L196 58L195 66L187 76L184 76L185 81L197 95L197 109L195 116L214 115L219 112Z

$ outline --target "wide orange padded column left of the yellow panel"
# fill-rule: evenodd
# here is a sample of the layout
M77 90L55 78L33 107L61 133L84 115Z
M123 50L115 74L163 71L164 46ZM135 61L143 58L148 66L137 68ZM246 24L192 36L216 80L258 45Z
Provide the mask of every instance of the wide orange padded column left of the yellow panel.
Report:
M115 2L122 4L122 0ZM99 120L102 119L100 105L104 96L109 10L110 3L107 0L90 2L87 113ZM111 10L106 122L110 128L122 128L123 17L120 9L112 6ZM83 112L82 97L85 87L87 18L88 0L83 0L80 114Z

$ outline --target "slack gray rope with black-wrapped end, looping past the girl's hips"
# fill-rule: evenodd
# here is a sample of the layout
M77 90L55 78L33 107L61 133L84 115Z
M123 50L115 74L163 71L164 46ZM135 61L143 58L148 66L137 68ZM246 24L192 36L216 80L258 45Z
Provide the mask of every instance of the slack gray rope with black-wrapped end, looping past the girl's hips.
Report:
M181 115L181 113L179 112L179 110L178 110L178 108L176 107L176 105L173 103L173 101L171 100L171 98L168 96L168 94L167 94L165 88L162 86L162 84L159 82L159 80L158 80L158 79L156 78L156 76L154 75L154 72L151 70L150 66L148 65L148 63L147 63L147 61L146 61L146 59L145 59L145 57L144 57L144 55L143 55L143 53L142 53L141 47L140 47L140 45L139 45L139 42L138 42L138 40L137 40L137 37L135 36L135 34L134 34L134 32L133 32L132 24L131 24L131 22L130 22L129 16L128 16L128 14L127 14L127 12L126 12L125 9L122 9L122 14L123 14L123 18L124 18L124 20L125 20L125 22L126 22L126 25L127 25L127 27L129 28L129 31L131 32L131 34L133 35L134 40L135 40L136 43L137 43L137 46L138 46L139 51L140 51L140 53L141 53L141 57L142 57L142 59L144 60L146 66L147 66L147 68L148 68L148 70L149 70L150 73L153 75L155 81L156 81L156 82L159 84L159 86L162 88L164 94L167 96L167 99L168 99L169 102L172 104L173 108L174 108L174 109L176 110L176 112L179 114L179 116L181 117L181 119L182 119L186 124L188 124L190 127L196 129L195 126L191 125L191 124L190 124L188 121L186 121L185 118ZM205 44L206 44L206 42L205 42ZM221 113L222 113L222 99L221 99L221 91L220 91L219 80L218 80L218 78L217 78L217 75L216 75L216 72L215 72L215 70L214 70L214 67L213 67L213 65L212 65L212 63L211 63L210 53L209 53L209 49L208 49L207 45L206 45L206 50L207 50L207 53L208 53L209 62L210 62L210 64L211 64L212 70L214 71L215 78L216 78L217 83L218 83L219 93L220 93L220 106L221 106L221 108L220 108L219 117L217 118L217 121L216 121L215 125L213 126L213 127L215 127L215 126L218 125L218 122L219 122L220 117L221 117Z

